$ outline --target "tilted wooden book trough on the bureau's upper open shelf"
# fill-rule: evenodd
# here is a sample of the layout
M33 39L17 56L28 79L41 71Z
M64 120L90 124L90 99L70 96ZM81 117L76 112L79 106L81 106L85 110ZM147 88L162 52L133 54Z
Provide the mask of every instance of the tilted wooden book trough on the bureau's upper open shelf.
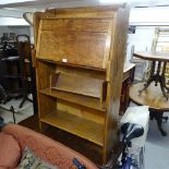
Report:
M79 83L74 83L79 82ZM51 75L51 88L95 98L101 98L102 80L88 76L55 73Z

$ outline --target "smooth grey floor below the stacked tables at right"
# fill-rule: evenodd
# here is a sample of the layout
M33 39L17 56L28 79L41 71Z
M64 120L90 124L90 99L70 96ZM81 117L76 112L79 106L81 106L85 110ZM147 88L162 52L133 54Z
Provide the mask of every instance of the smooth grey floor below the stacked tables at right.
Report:
M164 121L162 128L168 133L167 136L161 136L155 120L149 121L145 146L145 169L169 169L169 121Z

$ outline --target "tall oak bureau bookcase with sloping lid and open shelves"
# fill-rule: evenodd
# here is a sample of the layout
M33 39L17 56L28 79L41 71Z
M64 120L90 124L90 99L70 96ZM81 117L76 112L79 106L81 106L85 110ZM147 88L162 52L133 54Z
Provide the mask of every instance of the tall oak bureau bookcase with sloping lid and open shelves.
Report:
M37 12L34 17L39 123L99 145L118 141L126 4Z

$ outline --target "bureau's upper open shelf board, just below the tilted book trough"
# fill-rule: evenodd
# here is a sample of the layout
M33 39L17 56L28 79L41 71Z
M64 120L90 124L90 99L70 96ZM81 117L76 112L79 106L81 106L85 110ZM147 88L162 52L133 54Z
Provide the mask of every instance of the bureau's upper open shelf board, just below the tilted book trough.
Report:
M39 90L39 93L45 94L47 96L60 98L62 100L65 100L72 104L77 104L96 110L106 111L105 102L100 102L100 100L97 98L51 89L51 88L41 89Z

